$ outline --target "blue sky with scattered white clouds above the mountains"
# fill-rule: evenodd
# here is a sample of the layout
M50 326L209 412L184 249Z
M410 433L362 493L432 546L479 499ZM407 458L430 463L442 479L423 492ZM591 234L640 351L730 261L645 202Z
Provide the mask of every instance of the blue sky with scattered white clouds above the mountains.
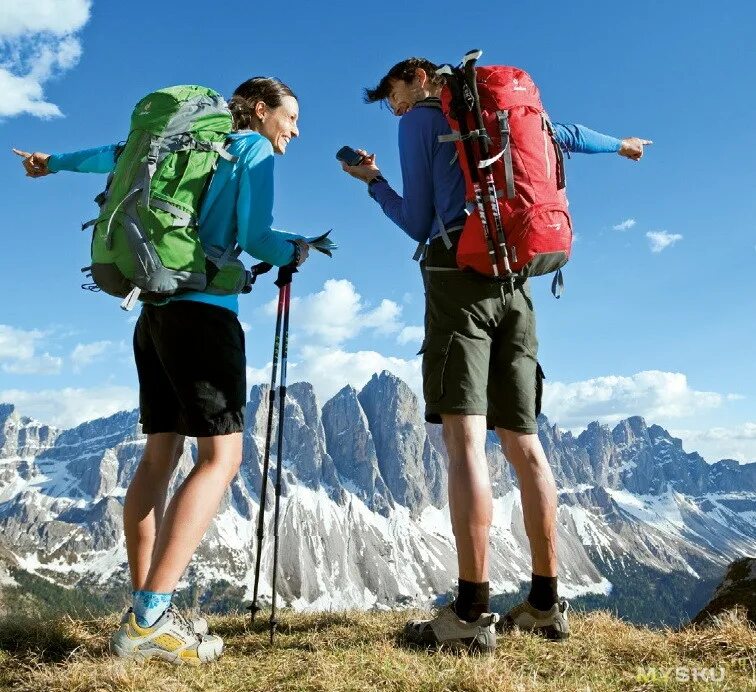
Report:
M545 413L580 429L631 414L714 460L756 460L752 126L756 9L746 2L249 3L11 0L0 9L0 400L71 424L133 405L133 317L79 288L81 220L104 180L22 175L10 148L111 143L148 91L199 83L230 94L275 75L300 97L301 138L276 165L276 224L333 227L336 258L296 277L290 380L324 399L389 368L419 386L422 290L413 243L334 160L375 151L400 188L397 119L361 102L398 60L514 64L552 119L654 140L640 163L574 156L577 242L567 289L534 285ZM492 13L491 8L496 9ZM195 12L196 10L196 12ZM648 234L661 234L651 235ZM654 238L667 243L654 251ZM243 298L249 382L267 381L269 281Z

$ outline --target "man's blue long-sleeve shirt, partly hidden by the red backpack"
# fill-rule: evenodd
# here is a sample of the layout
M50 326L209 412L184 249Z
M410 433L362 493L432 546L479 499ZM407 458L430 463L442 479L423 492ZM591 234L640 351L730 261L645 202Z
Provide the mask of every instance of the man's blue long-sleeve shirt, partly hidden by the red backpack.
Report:
M384 214L418 243L440 233L438 218L445 227L465 215L465 181L456 163L452 142L439 142L439 135L451 132L438 108L413 108L399 121L399 161L403 193L388 182L370 185L370 195ZM583 125L554 123L554 134L562 149L583 154L616 152L622 141Z

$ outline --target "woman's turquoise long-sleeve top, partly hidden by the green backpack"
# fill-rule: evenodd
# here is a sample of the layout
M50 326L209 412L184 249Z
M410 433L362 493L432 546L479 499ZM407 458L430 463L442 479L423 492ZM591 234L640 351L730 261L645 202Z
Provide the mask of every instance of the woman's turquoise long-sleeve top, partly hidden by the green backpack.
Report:
M219 159L199 219L205 247L225 249L236 241L246 253L275 266L294 259L292 241L300 238L273 229L273 146L257 132L230 135L228 150L235 162ZM50 171L110 173L115 167L116 145L53 154ZM238 296L191 292L171 300L195 300L239 313Z

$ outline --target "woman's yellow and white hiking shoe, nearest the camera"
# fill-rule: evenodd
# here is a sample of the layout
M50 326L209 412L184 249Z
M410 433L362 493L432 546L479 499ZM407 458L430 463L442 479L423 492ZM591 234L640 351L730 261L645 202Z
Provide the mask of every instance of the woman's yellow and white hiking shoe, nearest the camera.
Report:
M110 649L121 658L158 658L175 665L200 665L216 660L223 652L223 640L197 634L189 620L169 606L152 627L140 627L129 610L110 638Z

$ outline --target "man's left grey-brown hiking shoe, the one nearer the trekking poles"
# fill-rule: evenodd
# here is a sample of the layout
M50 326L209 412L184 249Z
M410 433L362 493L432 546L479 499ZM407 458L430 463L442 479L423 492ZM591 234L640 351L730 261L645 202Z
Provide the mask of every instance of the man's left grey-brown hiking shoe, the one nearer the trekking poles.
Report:
M451 603L430 620L410 620L403 634L411 644L491 654L496 649L494 625L498 619L496 613L483 613L475 622L461 620Z

